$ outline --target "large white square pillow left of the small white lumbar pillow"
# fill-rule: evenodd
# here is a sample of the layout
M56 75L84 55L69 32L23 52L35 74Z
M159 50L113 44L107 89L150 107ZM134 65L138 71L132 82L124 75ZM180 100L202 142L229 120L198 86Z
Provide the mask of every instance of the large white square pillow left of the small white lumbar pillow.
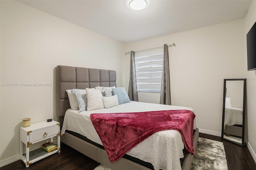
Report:
M88 89L87 93L87 111L104 108L102 93L99 89Z

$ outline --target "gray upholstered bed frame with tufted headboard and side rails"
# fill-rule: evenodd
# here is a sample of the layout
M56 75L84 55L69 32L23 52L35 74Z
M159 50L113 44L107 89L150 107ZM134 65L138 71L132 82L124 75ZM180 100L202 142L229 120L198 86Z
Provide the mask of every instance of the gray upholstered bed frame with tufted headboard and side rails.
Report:
M96 86L116 86L116 71L58 65L56 79L57 115L59 117L58 121L62 127L65 112L70 108L66 90L93 88ZM198 136L199 132L197 128L193 137L194 150L196 150ZM111 163L104 149L86 142L85 140L82 140L68 132L60 137L60 141L99 162L100 164L111 168L112 170L149 170L149 168L136 162L132 162L126 158L120 158L118 161ZM192 154L186 154L182 163L182 170L190 170L192 158Z

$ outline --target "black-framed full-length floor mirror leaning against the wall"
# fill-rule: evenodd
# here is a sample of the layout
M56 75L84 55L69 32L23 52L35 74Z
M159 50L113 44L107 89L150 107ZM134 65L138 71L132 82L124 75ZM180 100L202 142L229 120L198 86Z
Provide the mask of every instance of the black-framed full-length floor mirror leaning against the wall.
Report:
M246 79L224 79L222 132L224 140L244 146Z

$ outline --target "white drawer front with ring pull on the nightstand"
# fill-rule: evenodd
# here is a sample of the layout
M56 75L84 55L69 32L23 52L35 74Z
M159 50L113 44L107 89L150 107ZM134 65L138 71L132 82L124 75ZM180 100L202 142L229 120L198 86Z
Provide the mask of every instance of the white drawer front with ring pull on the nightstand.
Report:
M47 127L47 128L43 128L40 130L32 130L32 132L30 132L29 134L29 142L34 142L36 140L40 140L43 138L48 138L52 135L56 135L58 134L58 125L56 126L52 126L52 127Z

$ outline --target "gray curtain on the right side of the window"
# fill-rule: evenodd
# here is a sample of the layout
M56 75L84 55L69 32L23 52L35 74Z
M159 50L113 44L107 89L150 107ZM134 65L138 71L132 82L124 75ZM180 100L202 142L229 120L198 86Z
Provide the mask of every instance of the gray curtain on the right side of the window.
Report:
M163 61L160 104L171 105L169 52L168 52L167 44L164 44L164 61Z

